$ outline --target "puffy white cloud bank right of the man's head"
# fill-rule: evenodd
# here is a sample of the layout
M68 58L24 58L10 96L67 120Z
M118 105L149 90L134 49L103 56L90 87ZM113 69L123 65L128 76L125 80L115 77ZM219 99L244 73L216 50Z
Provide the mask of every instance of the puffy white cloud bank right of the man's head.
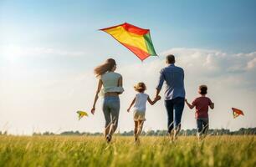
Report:
M177 63L189 70L207 70L207 74L242 73L253 70L256 53L223 53L198 48L173 48L164 53L177 55ZM196 68L194 68L196 67Z

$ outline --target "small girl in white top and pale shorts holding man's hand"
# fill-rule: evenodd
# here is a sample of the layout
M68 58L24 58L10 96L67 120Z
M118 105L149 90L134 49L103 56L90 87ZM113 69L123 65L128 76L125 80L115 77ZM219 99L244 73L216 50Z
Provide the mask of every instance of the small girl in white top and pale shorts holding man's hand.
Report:
M135 129L134 129L134 137L137 141L139 135L141 134L143 123L146 120L145 119L145 113L146 113L146 101L148 101L151 105L155 104L156 101L161 99L161 96L157 96L154 101L152 101L148 94L144 94L146 90L145 83L137 83L136 86L134 86L134 89L139 92L139 94L136 94L135 99L132 100L131 105L129 109L127 109L127 112L130 112L131 107L133 107L133 119L135 123Z

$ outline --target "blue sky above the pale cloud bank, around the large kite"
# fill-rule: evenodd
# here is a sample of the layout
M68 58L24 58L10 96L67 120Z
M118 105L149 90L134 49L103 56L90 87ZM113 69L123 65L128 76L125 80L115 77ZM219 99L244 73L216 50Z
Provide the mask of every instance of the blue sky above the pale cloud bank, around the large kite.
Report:
M251 52L256 45L255 1L2 0L0 4L2 26L31 46L99 48L95 45L111 41L96 30L124 22L151 28L158 52L200 47L239 53ZM8 42L15 43L1 39Z

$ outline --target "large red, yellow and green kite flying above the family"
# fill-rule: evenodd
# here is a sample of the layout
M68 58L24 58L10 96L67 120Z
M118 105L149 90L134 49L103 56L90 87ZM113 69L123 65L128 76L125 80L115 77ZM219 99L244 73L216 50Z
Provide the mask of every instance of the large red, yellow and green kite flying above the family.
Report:
M125 48L135 53L143 61L149 56L157 56L149 29L138 28L130 23L123 23L110 28L102 28L101 31L109 33Z

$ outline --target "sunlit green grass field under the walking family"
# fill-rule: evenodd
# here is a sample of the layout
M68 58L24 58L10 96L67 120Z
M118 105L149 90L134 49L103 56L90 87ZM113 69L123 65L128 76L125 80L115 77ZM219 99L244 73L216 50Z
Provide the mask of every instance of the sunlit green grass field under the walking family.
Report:
M0 166L256 166L256 137L0 136Z

